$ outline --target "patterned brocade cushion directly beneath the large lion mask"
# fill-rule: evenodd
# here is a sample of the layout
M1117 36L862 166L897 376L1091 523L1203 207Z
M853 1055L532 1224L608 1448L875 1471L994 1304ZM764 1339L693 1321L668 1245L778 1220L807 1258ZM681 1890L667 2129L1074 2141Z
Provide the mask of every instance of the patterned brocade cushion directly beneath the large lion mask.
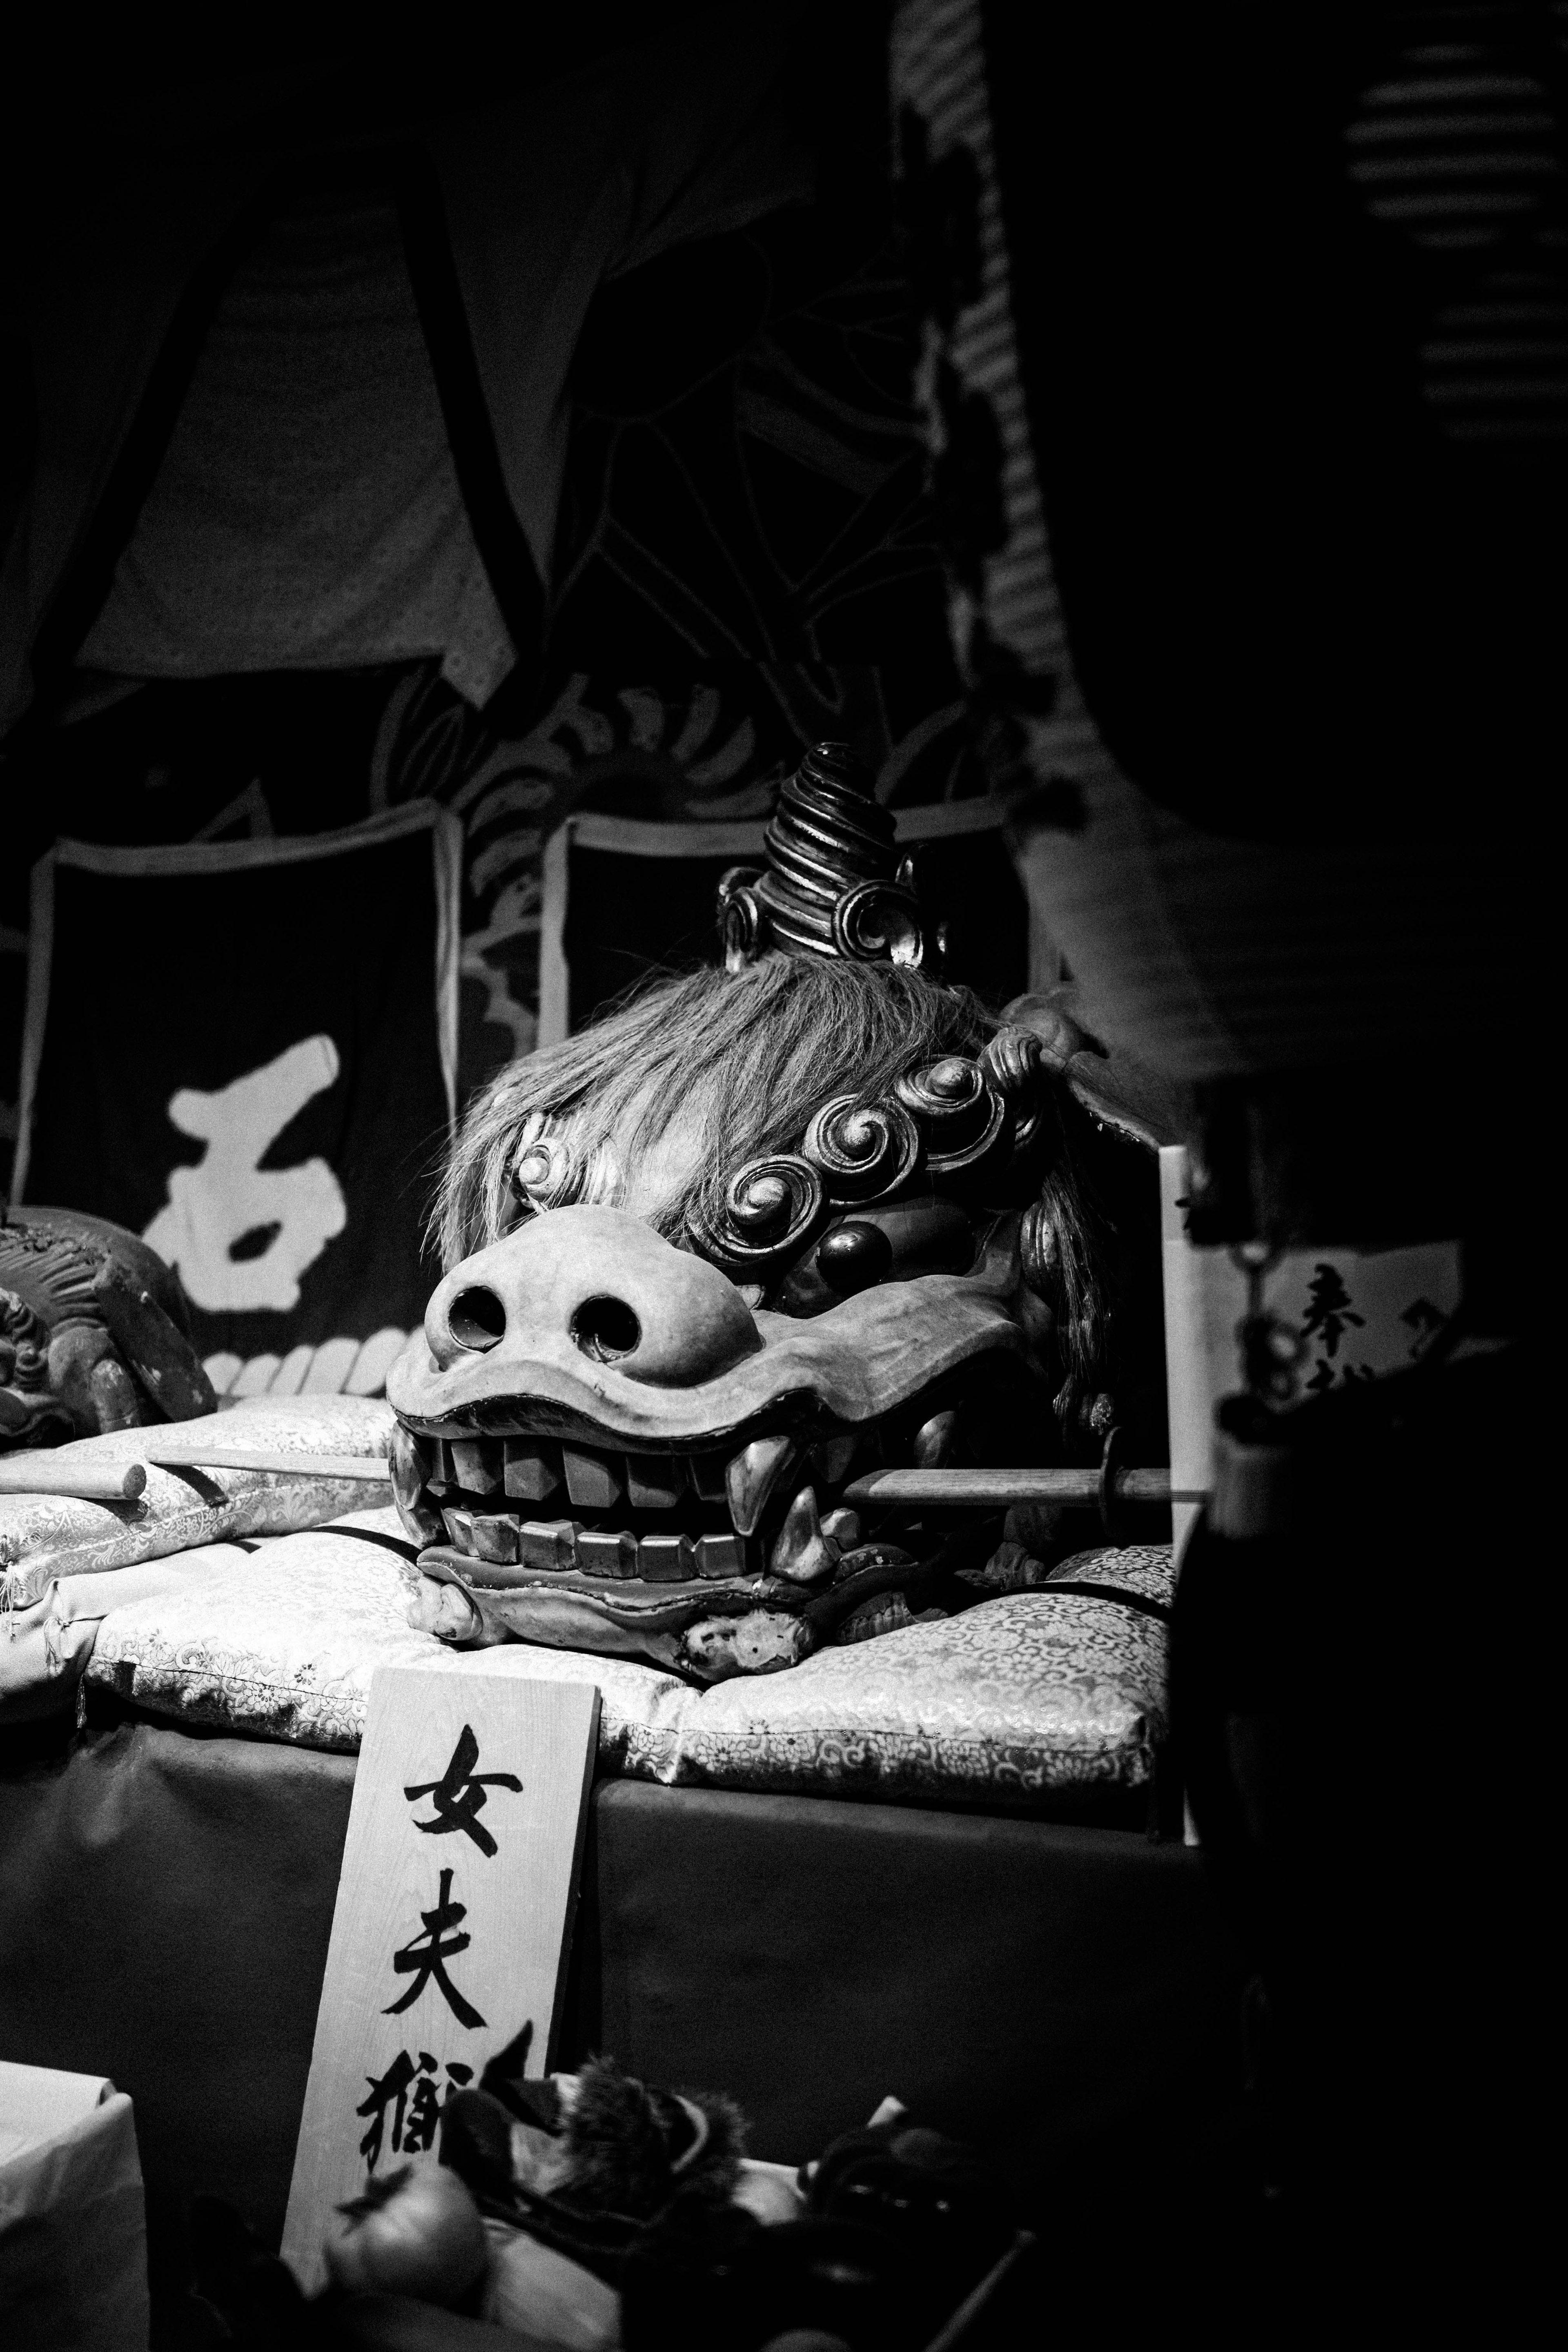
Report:
M1171 1555L1079 1552L1056 1581L1164 1604ZM360 1745L376 1665L597 1682L602 1771L924 1804L1145 1788L1166 1731L1161 1616L1051 1585L696 1691L630 1658L449 1651L407 1625L411 1583L390 1510L193 1557L179 1590L103 1618L87 1679L155 1715L339 1750Z

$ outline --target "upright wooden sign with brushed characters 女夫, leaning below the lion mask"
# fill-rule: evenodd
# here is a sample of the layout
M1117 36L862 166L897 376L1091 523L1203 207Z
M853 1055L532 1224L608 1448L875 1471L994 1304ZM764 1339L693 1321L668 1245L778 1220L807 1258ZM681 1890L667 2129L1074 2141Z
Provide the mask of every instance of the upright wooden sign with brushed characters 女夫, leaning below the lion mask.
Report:
M524 2032L548 2070L597 1726L590 1682L376 1668L282 2237L306 2293L336 2206L435 2161L456 2089Z

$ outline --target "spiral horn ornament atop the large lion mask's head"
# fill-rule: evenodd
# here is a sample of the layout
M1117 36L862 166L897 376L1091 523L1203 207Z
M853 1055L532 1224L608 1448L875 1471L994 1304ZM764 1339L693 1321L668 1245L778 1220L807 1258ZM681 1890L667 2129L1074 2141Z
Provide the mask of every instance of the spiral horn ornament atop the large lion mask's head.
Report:
M893 814L849 743L818 743L785 779L764 847L766 868L731 866L719 882L729 971L776 953L907 964L938 978L943 943L912 861L898 856Z

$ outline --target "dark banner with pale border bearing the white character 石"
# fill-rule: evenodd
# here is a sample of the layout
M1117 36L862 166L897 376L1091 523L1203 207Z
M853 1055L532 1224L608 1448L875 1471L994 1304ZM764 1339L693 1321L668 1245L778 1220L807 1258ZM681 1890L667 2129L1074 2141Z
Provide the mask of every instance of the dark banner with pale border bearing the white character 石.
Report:
M458 854L414 807L38 868L16 1192L143 1235L221 1395L369 1395L423 1315Z

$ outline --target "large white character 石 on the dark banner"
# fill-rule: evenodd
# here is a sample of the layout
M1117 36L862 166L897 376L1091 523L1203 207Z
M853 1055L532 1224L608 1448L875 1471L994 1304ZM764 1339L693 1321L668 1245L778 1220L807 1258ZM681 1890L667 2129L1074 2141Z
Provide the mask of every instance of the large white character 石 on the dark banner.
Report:
M315 1035L228 1087L181 1087L169 1098L172 1124L207 1150L169 1174L169 1200L143 1242L179 1268L197 1308L287 1312L299 1305L299 1277L343 1232L343 1188L324 1160L261 1167L289 1120L336 1077L339 1049Z

